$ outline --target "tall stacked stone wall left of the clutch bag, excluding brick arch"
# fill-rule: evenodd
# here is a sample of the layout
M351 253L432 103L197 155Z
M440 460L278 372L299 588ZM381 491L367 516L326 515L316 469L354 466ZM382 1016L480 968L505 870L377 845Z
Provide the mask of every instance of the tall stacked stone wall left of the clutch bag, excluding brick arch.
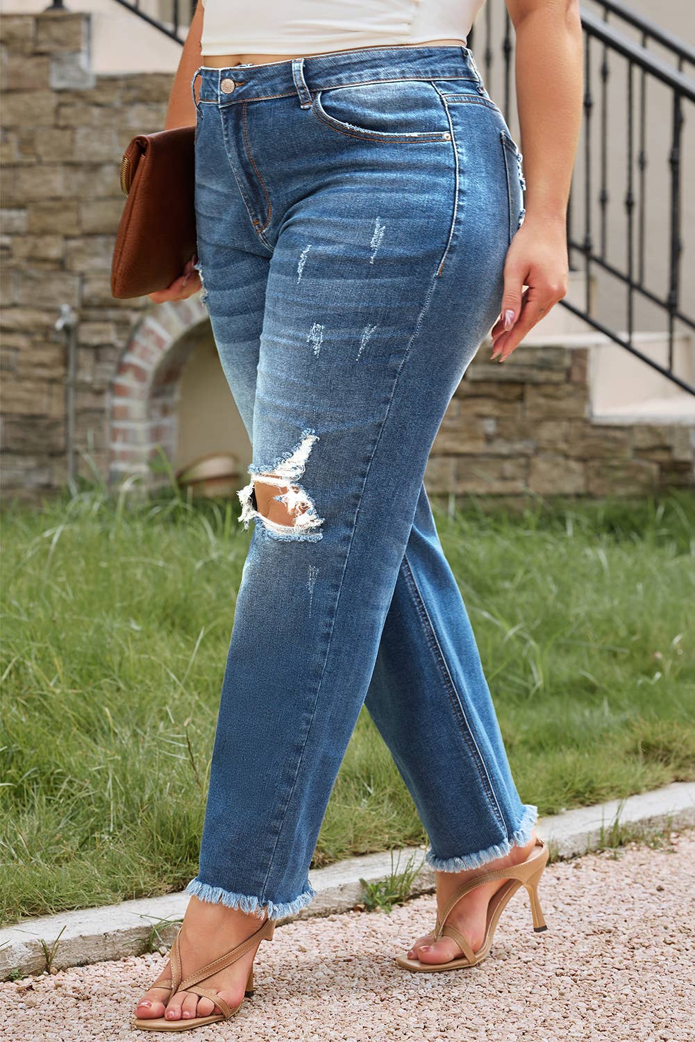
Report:
M164 126L171 76L94 77L89 27L77 14L0 18L6 496L66 479L66 349L53 330L59 305L79 317L76 448L105 474L111 382L149 303L110 296L124 203L119 164L134 133Z

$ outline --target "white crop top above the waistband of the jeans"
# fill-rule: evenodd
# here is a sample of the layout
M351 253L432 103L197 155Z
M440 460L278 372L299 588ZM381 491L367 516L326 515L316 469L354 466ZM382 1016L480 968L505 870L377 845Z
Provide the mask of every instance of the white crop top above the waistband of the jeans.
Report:
M203 3L203 0L201 0ZM205 54L321 54L466 43L485 0L204 0Z

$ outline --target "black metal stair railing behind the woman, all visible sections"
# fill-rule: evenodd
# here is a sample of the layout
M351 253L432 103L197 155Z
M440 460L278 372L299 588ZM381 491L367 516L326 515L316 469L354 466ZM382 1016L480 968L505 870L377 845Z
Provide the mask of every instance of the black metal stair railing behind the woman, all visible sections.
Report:
M183 43L196 0L162 0L155 8L166 20L143 7L143 0L116 0L123 7ZM567 245L570 268L584 271L586 295L581 305L564 299L562 305L641 358L682 390L695 395L695 386L676 372L675 345L679 334L695 340L695 301L684 302L682 271L690 274L695 295L695 227L684 218L687 145L695 154L695 48L631 10L620 0L586 0L600 17L581 7L584 29L585 95L581 141L572 177L567 209ZM501 17L501 27L499 20ZM491 94L507 122L512 114L514 30L502 0L488 0L468 36L468 46ZM501 57L502 82L496 80ZM611 91L616 72L621 90ZM648 103L659 105L648 114ZM619 106L624 106L619 111ZM598 107L598 121L595 108ZM686 119L686 113L690 117ZM666 126L668 125L668 133ZM691 138L686 141L686 133ZM623 168L617 175L616 153L622 149ZM654 158L655 156L655 158ZM654 164L656 166L654 167ZM661 164L661 165L660 165ZM654 177L649 183L650 167ZM695 183L691 175L690 183ZM663 213L662 195L668 196L664 221L654 221L654 199ZM618 200L622 215L616 213ZM650 206L651 203L651 206ZM650 219L651 218L651 219ZM575 231L576 228L576 231ZM690 241L686 242L686 235ZM618 254L618 255L616 255ZM684 266L684 255L688 265ZM607 300L609 316L592 298ZM624 294L624 323L616 315L616 292ZM647 308L647 313L645 313ZM649 308L651 309L649 312ZM606 311L606 308L603 308ZM640 350L636 331L662 331L667 350L665 364ZM618 328L620 326L620 328Z

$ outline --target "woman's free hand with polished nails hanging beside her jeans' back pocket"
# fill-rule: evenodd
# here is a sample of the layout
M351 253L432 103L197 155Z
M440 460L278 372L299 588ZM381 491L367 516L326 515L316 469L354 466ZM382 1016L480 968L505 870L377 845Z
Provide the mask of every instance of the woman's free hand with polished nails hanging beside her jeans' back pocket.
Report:
M526 214L504 260L500 318L491 330L491 358L508 358L528 330L567 293L569 263L565 219ZM522 287L525 289L522 293Z

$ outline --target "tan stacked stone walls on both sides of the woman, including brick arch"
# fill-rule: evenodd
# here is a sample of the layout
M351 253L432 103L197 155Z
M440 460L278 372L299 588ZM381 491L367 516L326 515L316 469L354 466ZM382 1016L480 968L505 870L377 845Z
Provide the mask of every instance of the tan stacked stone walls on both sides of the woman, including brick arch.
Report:
M0 26L2 480L6 498L38 498L67 475L59 306L79 318L78 470L111 480L148 474L158 446L173 453L178 374L206 316L196 298L156 307L109 290L121 155L134 133L164 126L171 77L95 76L89 16L4 15ZM692 429L592 420L586 348L522 345L501 365L489 355L483 345L444 418L426 473L432 495L695 483Z

